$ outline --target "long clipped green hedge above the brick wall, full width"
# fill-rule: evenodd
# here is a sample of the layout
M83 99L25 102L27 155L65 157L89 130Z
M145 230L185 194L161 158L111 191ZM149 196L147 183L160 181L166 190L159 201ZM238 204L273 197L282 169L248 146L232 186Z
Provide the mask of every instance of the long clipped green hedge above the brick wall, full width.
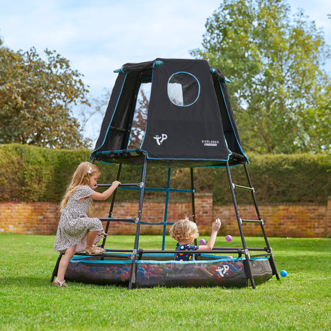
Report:
M50 150L34 146L0 146L0 201L61 201L72 173L81 161L88 161L90 150ZM331 196L331 159L325 154L251 154L248 170L259 205L326 204ZM96 162L101 170L99 183L116 179L117 165ZM141 167L123 165L123 183L140 181ZM247 185L241 165L231 169L232 181ZM148 168L147 187L164 188L168 169ZM212 193L214 203L232 203L228 178L223 168L195 168L197 193ZM172 188L190 188L190 171L172 169ZM251 203L248 192L238 191L238 203ZM117 199L137 199L137 191L118 190ZM146 192L146 199L164 200L164 193ZM190 199L190 194L170 194L170 201Z

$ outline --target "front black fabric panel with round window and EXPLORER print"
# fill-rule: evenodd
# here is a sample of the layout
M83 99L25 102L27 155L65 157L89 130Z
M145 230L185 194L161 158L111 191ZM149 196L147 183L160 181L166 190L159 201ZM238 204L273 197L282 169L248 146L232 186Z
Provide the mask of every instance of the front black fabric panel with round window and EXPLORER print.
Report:
M153 71L147 129L142 145L148 158L228 159L230 151L224 139L208 62L159 60L163 65ZM168 97L168 80L176 72L188 72L200 83L199 98L191 106L176 106ZM163 141L160 138L157 143L157 137L167 138Z

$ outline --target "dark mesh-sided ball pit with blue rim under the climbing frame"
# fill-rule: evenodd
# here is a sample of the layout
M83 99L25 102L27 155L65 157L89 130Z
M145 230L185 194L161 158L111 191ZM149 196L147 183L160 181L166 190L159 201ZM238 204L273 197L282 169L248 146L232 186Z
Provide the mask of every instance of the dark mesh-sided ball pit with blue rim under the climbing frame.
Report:
M105 254L106 255L106 254ZM223 286L244 287L248 285L243 257L218 257L201 254L199 261L174 261L173 254L146 254L135 263L134 287L154 286ZM268 259L251 261L255 270L254 281L261 283L272 277ZM67 281L95 283L100 285L128 285L132 261L113 257L74 256L66 272Z

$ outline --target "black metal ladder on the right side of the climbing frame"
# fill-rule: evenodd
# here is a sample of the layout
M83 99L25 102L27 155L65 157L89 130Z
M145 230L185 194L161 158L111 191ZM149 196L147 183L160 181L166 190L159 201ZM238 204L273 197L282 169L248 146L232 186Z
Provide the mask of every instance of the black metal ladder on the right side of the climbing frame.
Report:
M279 280L279 275L277 272L277 268L276 265L274 264L274 258L272 255L272 248L270 248L269 242L268 242L268 238L267 235L265 234L265 230L264 230L264 226L263 226L263 219L261 219L261 214L259 212L259 207L257 206L257 199L255 197L255 190L252 186L252 181L250 180L250 175L248 173L248 168L247 168L247 162L243 161L243 167L245 169L245 174L248 180L248 186L242 186L242 185L237 185L232 183L232 178L231 178L231 173L230 173L230 166L228 161L226 162L226 170L227 170L227 174L228 174L228 180L230 183L230 190L231 190L231 194L232 194L232 201L234 204L234 210L236 212L236 216L237 216L237 223L238 223L238 227L239 227L239 232L240 232L240 237L241 237L241 242L243 244L243 252L245 254L245 260L244 265L245 265L245 272L246 272L246 276L248 277L248 279L250 279L251 283L252 283L252 288L255 288L255 283L254 283L254 279L252 276L252 269L250 268L250 258L251 257L265 257L268 256L268 261L270 263L270 267L272 269L272 274L276 275L277 279ZM245 190L251 193L252 195L252 199L254 202L254 207L255 210L257 212L257 219L241 219L241 217L239 216L239 210L238 210L238 205L237 205L237 199L236 199L236 194L234 192L234 190ZM261 249L261 248L254 248L254 249L250 249L247 247L246 243L245 243L245 237L243 234L243 224L245 223L255 223L257 225L260 225L261 227L261 231L263 234L263 238L265 241L265 248ZM250 255L250 250L260 250L260 251L265 251L265 253L263 254L254 254L254 255Z

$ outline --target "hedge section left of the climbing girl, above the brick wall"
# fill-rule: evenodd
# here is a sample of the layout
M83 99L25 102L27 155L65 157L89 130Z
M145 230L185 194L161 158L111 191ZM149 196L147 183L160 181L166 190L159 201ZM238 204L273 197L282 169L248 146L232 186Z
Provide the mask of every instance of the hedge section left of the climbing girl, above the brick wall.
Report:
M50 150L36 146L0 146L0 201L61 201L74 169L88 150Z

